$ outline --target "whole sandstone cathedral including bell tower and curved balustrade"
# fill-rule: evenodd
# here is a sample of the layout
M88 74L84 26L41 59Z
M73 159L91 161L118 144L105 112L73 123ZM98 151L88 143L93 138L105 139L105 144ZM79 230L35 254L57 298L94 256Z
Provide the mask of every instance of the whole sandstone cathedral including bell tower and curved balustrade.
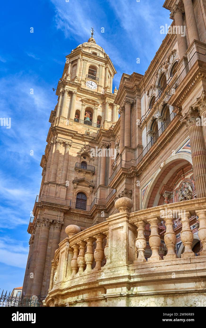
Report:
M163 6L173 32L145 74L124 73L119 90L112 92L116 70L93 35L66 56L28 227L23 284L23 295L42 300L49 290L47 306L93 306L94 298L99 306L131 306L129 290L138 294L139 280L135 276L131 287L112 270L121 267L119 277L148 270L149 277L155 266L166 275L171 261L172 273L191 261L199 268L205 264L206 3L166 0ZM82 275L92 276L85 282ZM107 279L107 287L113 279L116 287L107 292L95 285L98 279L102 286ZM193 274L190 279L185 284L196 293ZM153 287L148 282L148 290ZM112 295L116 303L105 305ZM126 303L118 303L125 295ZM149 306L144 297L139 305Z

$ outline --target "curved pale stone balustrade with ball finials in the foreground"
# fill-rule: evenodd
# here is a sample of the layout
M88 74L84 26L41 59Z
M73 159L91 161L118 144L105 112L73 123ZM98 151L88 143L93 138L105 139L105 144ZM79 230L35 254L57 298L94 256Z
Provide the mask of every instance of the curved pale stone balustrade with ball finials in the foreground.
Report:
M75 225L66 228L68 237L52 261L45 306L197 306L199 299L206 302L206 198L130 213L132 206L131 199L122 197L115 202L119 213L105 222L81 232ZM181 258L174 251L172 220L177 214L182 223ZM199 221L200 256L192 251L189 218L193 215ZM158 253L161 221L166 226L163 259ZM152 252L147 260L146 224L150 224Z

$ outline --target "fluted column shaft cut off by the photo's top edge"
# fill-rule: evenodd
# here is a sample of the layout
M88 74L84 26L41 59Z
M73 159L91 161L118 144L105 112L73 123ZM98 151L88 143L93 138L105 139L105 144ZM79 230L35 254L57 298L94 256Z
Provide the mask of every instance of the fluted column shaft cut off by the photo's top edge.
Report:
M185 16L187 21L187 30L189 35L190 44L197 40L199 41L199 34L197 30L197 24L195 20L195 13L193 9L192 0L183 0L185 6Z

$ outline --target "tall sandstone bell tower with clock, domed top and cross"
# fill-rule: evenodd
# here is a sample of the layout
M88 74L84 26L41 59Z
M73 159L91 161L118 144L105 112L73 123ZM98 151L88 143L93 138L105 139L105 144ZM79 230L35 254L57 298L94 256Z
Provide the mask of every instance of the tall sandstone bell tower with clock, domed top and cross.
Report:
M66 226L75 224L83 230L103 221L98 201L105 200L111 189L105 175L106 161L92 155L91 150L111 147L111 135L114 139L112 129L118 121L118 106L114 104L117 89L112 93L114 74L116 70L96 44L93 30L88 42L66 56L40 163L40 191L28 227L30 251L23 284L26 296L46 297L51 261L59 242L66 237Z

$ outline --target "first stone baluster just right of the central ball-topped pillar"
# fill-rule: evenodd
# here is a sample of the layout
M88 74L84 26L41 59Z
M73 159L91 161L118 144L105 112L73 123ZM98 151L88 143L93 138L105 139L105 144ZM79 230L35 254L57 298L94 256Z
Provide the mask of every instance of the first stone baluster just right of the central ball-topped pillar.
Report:
M147 241L144 235L145 224L146 223L144 221L139 221L135 223L135 225L137 226L137 239L135 245L137 248L138 257L137 260L134 261L134 264L147 262L145 258L145 249L147 247Z

